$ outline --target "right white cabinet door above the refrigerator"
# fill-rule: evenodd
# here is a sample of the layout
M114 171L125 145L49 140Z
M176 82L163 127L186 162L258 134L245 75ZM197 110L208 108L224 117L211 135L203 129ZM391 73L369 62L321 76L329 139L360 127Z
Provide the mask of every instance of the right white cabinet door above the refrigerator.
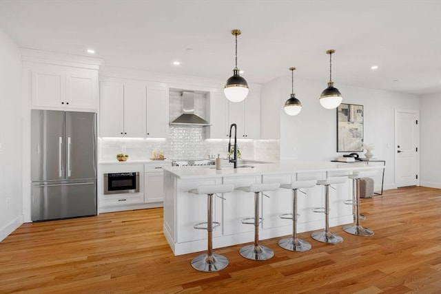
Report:
M66 74L66 105L96 109L96 70L74 70Z

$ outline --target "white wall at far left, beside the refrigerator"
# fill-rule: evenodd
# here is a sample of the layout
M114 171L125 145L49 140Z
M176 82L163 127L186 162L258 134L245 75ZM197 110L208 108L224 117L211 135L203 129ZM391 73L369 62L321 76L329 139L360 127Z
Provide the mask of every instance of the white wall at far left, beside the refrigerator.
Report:
M23 223L19 47L0 29L0 241Z

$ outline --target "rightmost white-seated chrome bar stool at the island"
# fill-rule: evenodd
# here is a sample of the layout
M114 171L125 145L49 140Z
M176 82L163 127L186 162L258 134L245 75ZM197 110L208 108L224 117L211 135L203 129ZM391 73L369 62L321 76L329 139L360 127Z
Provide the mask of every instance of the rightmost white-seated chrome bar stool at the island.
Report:
M377 171L360 171L354 172L349 175L348 178L352 179L352 195L353 199L348 200L346 204L352 204L353 207L353 219L355 224L347 224L343 227L343 231L352 235L369 236L373 235L371 229L362 227L360 224L360 181L362 178L371 178L377 174Z

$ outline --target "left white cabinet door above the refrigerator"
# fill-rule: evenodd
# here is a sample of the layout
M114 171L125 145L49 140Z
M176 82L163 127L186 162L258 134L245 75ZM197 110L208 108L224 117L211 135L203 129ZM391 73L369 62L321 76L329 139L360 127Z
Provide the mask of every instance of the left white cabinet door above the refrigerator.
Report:
M61 67L32 69L32 106L63 107L65 73Z

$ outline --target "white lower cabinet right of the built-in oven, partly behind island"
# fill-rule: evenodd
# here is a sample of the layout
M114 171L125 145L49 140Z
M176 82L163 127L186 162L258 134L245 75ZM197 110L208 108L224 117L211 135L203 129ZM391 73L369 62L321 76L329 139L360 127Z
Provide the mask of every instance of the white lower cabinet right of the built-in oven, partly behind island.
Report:
M151 162L144 165L144 202L164 201L163 167L171 167L171 162ZM161 204L162 206L162 204Z

